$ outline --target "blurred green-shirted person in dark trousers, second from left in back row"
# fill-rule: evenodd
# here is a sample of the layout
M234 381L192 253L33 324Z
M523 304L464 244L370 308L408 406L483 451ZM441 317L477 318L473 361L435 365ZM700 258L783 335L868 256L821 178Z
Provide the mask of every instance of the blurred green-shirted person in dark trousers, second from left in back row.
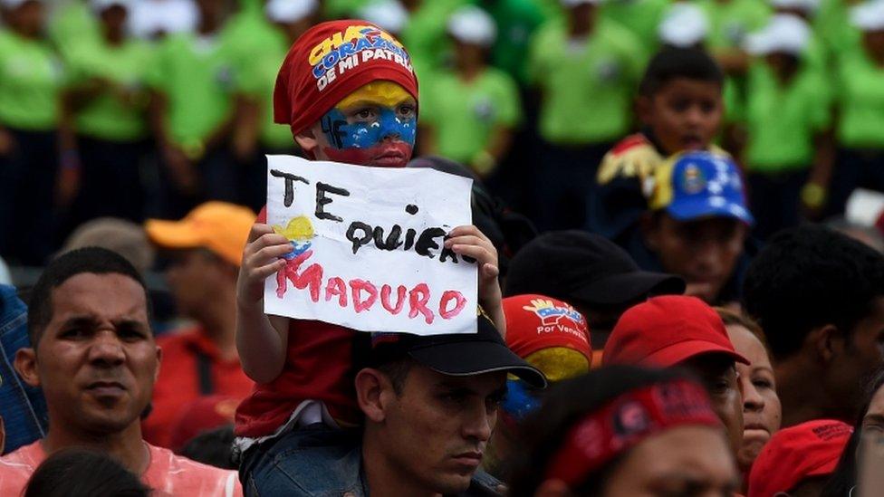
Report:
M144 217L140 168L148 150L144 79L151 53L126 34L128 0L91 0L91 7L101 37L72 50L62 93L62 119L76 134L62 134L63 154L79 157L80 165L64 187L79 186L71 229L100 216L138 223Z

